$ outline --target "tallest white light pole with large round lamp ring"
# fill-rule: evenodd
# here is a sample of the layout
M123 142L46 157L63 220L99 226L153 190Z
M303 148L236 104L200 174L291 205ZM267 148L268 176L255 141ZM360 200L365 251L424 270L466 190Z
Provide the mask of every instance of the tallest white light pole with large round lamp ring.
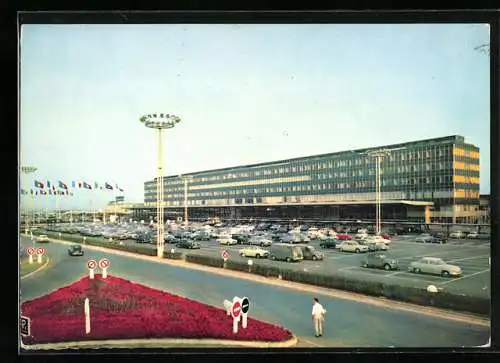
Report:
M159 258L163 258L165 240L163 239L163 129L171 129L181 119L178 116L154 113L144 115L139 119L146 127L158 130L158 177L156 179L156 218L158 223L156 233L156 252Z

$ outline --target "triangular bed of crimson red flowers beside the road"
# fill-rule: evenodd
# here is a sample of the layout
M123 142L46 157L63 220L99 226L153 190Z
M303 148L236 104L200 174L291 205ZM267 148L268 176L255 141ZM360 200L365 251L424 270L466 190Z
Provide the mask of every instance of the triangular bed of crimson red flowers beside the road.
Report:
M85 334L84 301L89 298L91 332ZM222 301L221 301L222 305ZM21 305L31 319L26 345L108 339L225 339L287 341L288 330L248 317L246 329L232 331L224 309L155 290L131 281L96 274Z

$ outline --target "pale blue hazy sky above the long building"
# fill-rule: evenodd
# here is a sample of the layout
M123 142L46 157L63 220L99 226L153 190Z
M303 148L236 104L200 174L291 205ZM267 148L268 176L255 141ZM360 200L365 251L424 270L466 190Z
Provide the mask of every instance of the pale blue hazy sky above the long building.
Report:
M144 200L157 134L164 175L459 134L490 191L485 24L22 25L20 156L34 180L118 184ZM102 208L112 191L21 197ZM56 205L57 204L57 205Z

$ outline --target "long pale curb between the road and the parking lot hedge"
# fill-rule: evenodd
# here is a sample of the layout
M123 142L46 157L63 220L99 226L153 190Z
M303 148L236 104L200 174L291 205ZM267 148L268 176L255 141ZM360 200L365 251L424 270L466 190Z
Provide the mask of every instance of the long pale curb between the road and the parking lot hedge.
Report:
M55 243L62 243L62 244L75 244L76 243L76 242L68 242L68 241L59 240L59 239L51 239L51 241L53 241ZM140 255L140 254L136 254L136 253L132 253L132 252L115 250L112 248L84 245L84 244L81 244L81 245L86 246L89 249L93 249L93 250L101 251L101 252L112 253L115 255L127 256L127 257L131 257L131 258L142 259L142 260L155 262L155 263L164 263L167 265L182 267L182 268L186 268L186 269L190 269L190 270L207 271L207 272L211 272L211 273L215 273L215 274L219 274L219 275L230 276L233 278L252 280L254 282L264 283L264 284L268 284L268 285L277 285L277 286L281 286L281 287L288 287L288 288L292 288L295 290L310 291L311 293L314 293L314 294L320 293L320 294L323 294L323 295L326 295L329 297L334 297L334 298L343 299L343 300L356 301L359 303L370 304L370 305L383 307L383 308L389 308L389 309L393 309L393 310L412 312L412 313L416 313L416 314L427 315L427 316L431 316L431 317L438 317L441 319L454 320L454 321L459 321L462 323L469 323L469 324L480 325L480 326L488 326L489 327L491 325L490 319L488 319L488 318L478 317L478 316L474 316L474 315L468 315L466 313L450 312L450 311L447 311L444 309L439 309L439 308L434 308L434 307L425 307L425 306L411 304L411 303L389 300L387 298L376 298L376 297L367 296L367 295L363 295L363 294L357 294L357 293L350 292L350 291L328 289L328 288L324 288L324 287L320 287L320 286L312 286L312 285L302 284L302 283L293 282L293 281L267 278L264 276L255 275L255 274L251 274L251 273L244 273L241 271L221 269L221 268L211 267L211 266L204 266L204 265L195 264L192 262L186 262L183 260L158 259L158 257L154 257L154 256Z

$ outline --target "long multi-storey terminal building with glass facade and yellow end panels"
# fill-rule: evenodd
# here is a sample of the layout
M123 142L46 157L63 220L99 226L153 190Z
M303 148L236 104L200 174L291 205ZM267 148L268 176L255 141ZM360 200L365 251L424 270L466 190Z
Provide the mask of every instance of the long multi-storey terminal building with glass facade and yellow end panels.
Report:
M476 221L479 148L458 135L186 174L189 218L374 220L379 150L384 221ZM182 216L184 183L164 177L166 216ZM144 202L137 217L156 213L156 179Z

